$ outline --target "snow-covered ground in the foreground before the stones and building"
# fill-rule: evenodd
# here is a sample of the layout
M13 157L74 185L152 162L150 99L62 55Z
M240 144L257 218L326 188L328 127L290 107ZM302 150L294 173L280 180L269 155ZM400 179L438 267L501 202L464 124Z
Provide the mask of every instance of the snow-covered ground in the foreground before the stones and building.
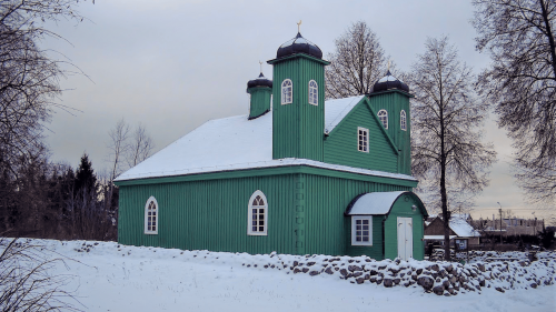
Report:
M350 283L339 274L265 269L277 255L31 242L44 245L53 258L71 259L52 273L71 276L67 289L75 291L80 302L76 308L83 311L556 311L554 284L505 293L483 288L444 296L416 284L385 288L368 281Z

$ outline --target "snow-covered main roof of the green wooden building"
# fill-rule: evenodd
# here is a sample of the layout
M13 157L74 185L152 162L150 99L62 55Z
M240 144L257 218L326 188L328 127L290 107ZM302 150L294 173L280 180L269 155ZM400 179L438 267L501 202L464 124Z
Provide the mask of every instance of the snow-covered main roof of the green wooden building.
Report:
M363 95L327 101L325 103L325 120L330 121L330 124L336 127L339 120L361 98ZM342 104L346 105L345 109L342 109ZM366 175L417 181L407 174L330 164L308 159L274 160L271 111L252 120L248 120L247 115L210 120L123 172L116 181L286 165L309 165Z

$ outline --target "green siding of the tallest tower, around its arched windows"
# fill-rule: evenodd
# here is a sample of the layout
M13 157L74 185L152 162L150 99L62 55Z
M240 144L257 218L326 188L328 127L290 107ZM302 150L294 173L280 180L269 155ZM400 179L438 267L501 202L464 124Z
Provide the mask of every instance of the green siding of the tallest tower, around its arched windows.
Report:
M322 161L325 63L299 54L274 63L272 158ZM281 83L290 79L292 103L281 104ZM318 105L309 104L309 81L318 84Z

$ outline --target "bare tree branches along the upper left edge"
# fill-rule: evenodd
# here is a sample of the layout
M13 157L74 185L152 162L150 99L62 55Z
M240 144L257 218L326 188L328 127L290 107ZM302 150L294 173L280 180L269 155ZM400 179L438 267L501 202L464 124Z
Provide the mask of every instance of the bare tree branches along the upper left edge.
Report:
M42 130L52 108L60 107L59 80L70 73L38 42L60 38L43 26L60 19L81 21L75 0L0 2L0 154L13 175L16 158L44 150Z

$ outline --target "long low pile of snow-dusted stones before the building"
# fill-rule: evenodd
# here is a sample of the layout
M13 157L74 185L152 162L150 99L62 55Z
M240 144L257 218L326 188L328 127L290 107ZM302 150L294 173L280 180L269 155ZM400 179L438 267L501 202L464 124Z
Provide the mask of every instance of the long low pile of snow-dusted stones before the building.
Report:
M267 255L268 256L268 255ZM364 284L374 283L385 288L421 286L425 292L437 295L456 295L465 292L480 292L494 288L499 292L509 289L529 289L550 285L556 282L556 260L553 258L529 262L498 261L461 264L458 262L430 262L383 260L366 256L284 255L270 254L266 264L244 263L260 269L285 270L287 273L331 275ZM262 259L260 259L262 260ZM266 259L268 261L268 258Z

